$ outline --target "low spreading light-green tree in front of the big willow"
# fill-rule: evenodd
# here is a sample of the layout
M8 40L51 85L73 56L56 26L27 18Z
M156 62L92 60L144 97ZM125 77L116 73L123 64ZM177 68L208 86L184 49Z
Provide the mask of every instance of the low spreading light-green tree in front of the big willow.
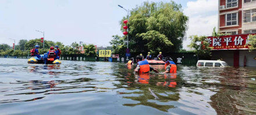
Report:
M161 52L163 49L168 49L173 45L165 35L155 30L142 33L139 36L146 41L147 44L145 44L145 46L150 49L152 55L158 55L158 52Z

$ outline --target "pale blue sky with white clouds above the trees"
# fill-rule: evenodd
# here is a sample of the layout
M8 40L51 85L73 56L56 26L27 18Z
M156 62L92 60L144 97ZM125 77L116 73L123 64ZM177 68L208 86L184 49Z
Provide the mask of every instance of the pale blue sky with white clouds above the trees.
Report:
M122 35L120 20L127 15L126 9L136 8L146 0L1 0L0 44L16 44L20 39L41 38L60 41L65 45L84 42L108 46L112 35ZM149 0L169 2L167 0ZM183 6L189 16L187 48L190 35L211 35L218 25L217 0L173 0Z

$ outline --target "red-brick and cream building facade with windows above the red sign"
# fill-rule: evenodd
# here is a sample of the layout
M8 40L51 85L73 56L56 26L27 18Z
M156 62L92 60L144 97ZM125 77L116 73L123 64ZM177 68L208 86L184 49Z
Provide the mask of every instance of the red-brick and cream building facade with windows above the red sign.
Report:
M219 0L219 32L256 33L256 0Z

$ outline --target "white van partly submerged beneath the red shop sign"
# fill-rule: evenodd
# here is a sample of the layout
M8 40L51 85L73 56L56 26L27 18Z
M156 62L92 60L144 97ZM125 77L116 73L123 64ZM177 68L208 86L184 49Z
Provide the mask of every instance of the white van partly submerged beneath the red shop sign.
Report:
M221 60L198 60L197 67L227 67L226 62Z

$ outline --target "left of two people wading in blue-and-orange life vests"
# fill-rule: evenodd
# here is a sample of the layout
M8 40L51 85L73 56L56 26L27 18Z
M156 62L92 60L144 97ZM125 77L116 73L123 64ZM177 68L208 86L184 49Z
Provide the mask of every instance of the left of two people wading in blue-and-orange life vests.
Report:
M155 73L159 73L158 70L154 69L153 67L150 67L150 64L148 63L147 60L143 60L143 57L138 55L136 56L136 62L137 62L137 67L134 69L135 72L137 73L150 73L150 71L155 71Z

